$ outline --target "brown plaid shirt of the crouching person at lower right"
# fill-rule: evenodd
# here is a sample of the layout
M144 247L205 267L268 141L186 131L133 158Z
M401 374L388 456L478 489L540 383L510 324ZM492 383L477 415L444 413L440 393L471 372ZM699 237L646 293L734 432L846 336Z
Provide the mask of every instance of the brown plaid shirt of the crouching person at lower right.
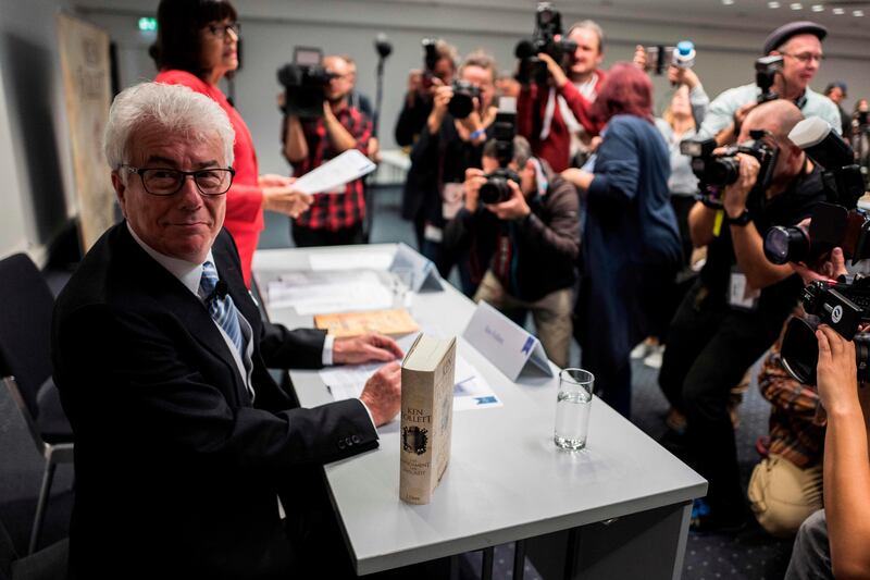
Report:
M825 420L819 414L821 400L815 387L795 381L783 368L780 343L758 373L761 396L770 411L770 453L782 455L799 468L821 460L824 449Z

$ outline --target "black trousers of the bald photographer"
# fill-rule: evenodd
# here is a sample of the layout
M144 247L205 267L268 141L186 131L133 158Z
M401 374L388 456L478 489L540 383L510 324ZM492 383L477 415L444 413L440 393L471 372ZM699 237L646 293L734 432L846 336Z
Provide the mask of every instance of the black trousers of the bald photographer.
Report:
M787 309L782 317L745 312L706 293L697 281L680 305L659 385L671 405L686 416L686 459L709 481L710 507L744 509L729 395L776 340Z

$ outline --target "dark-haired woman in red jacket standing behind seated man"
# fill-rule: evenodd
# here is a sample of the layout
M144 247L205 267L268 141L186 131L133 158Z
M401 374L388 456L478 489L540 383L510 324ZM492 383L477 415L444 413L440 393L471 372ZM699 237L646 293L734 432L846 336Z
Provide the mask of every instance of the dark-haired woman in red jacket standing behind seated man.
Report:
M239 25L233 5L224 0L162 0L157 20L157 42L149 50L160 70L156 81L185 85L212 98L236 132L236 176L226 194L224 225L233 234L250 286L263 210L296 218L311 205L311 196L295 192L290 177L259 174L250 131L217 86L238 69Z

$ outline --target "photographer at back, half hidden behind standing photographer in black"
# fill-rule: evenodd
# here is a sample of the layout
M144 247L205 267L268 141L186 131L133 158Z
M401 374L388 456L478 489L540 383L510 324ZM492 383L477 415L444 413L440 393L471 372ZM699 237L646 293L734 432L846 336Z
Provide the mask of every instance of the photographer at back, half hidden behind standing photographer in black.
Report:
M430 51L433 51L434 59L426 63L427 70L408 73L408 92L396 121L395 136L400 147L411 147L417 141L432 112L435 91L453 82L459 51L442 39L434 41L433 49Z

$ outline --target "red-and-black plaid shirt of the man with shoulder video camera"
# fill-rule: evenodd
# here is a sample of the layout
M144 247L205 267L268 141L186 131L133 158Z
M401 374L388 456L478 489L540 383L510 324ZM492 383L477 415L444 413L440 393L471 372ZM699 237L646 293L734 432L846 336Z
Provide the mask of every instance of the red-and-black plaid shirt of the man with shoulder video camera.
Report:
M338 122L357 140L357 149L363 155L369 150L372 136L372 122L355 107L345 107L336 113ZM308 141L308 158L294 168L296 176L304 175L325 161L339 155L335 150L326 131L323 118L302 120L302 131ZM345 186L344 194L315 195L311 208L294 221L295 225L312 230L335 232L351 227L365 218L365 199L362 195L362 180L355 180Z

